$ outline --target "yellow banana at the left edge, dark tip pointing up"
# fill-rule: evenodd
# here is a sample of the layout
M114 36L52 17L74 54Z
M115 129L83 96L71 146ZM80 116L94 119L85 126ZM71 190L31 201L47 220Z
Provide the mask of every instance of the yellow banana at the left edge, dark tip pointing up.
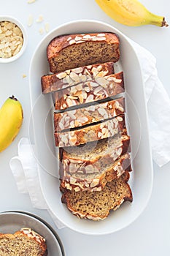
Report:
M0 152L12 143L22 123L22 105L14 96L9 97L0 109Z

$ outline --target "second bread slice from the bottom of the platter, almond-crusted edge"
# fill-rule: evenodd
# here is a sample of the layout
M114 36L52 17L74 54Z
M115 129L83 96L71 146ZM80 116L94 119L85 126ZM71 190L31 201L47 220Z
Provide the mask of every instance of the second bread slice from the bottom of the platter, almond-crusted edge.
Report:
M101 157L92 165L81 165L81 168L74 169L74 165L80 165L78 160L69 163L66 166L66 159L63 161L63 170L61 167L61 187L74 191L101 191L108 181L119 178L125 170L131 171L131 157L126 153L113 161L112 157ZM65 165L65 166L64 166ZM71 165L71 166L70 166Z

